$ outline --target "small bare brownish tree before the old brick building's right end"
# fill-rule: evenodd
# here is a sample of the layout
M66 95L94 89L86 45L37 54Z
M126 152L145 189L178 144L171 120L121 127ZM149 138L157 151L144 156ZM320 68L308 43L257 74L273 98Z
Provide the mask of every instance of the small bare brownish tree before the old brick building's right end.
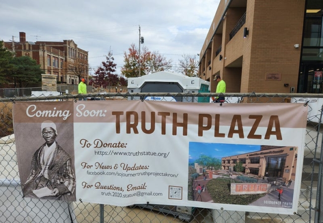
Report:
M79 80L86 77L88 69L88 61L84 57L75 57L67 62L67 71L70 75L78 76Z

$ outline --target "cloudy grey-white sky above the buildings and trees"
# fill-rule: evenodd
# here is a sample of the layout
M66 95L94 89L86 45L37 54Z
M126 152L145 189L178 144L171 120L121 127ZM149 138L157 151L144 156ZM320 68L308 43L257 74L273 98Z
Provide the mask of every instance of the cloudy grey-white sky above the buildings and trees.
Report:
M139 45L141 36L151 52L158 52L173 67L182 55L197 59L220 0L14 0L0 6L0 40L74 40L88 51L93 74L110 48L117 73L124 52Z

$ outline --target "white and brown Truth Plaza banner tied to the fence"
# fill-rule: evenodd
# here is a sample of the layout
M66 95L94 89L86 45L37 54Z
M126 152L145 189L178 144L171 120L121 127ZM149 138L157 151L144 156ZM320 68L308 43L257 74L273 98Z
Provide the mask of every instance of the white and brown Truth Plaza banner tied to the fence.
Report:
M303 104L16 102L13 112L26 197L297 212Z

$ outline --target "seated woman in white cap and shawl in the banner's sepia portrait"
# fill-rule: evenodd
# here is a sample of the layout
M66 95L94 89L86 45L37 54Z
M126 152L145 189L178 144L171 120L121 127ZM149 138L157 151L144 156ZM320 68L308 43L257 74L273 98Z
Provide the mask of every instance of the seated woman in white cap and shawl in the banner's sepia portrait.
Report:
M75 200L76 178L70 155L59 145L59 131L52 121L39 129L45 143L32 156L30 173L23 183L25 197Z

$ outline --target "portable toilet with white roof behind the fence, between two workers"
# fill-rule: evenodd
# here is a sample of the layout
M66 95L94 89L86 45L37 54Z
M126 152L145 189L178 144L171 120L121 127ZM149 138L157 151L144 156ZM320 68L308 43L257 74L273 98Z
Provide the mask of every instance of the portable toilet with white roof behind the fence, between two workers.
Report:
M198 77L189 77L180 73L158 71L141 77L128 78L129 93L209 93L210 82ZM129 100L140 100L140 97L129 97ZM209 97L151 97L144 100L205 102Z

